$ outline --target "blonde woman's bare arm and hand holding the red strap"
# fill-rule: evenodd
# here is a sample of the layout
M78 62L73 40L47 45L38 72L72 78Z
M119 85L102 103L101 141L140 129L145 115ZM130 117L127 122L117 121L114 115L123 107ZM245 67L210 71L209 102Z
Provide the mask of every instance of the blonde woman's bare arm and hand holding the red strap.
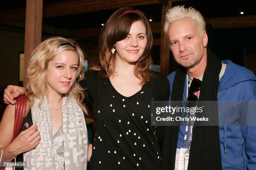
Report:
M0 122L0 154L3 150L2 162L11 161L20 153L36 148L41 139L37 126L31 126L21 132L11 143L14 121L15 105L8 105Z

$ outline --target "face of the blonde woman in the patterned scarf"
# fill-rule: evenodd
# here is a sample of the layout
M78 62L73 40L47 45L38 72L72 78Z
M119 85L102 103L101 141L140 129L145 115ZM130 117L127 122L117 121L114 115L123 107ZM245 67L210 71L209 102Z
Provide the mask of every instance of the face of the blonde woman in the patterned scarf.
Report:
M46 89L60 95L69 92L77 78L78 56L72 50L64 50L48 63L45 70Z

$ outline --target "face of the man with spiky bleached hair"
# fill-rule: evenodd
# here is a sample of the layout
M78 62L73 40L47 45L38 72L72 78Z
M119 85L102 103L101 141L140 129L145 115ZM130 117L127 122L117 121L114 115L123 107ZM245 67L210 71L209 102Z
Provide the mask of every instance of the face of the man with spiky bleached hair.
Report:
M194 67L207 55L207 34L203 32L200 36L197 24L191 18L170 23L168 37L174 60L185 68Z

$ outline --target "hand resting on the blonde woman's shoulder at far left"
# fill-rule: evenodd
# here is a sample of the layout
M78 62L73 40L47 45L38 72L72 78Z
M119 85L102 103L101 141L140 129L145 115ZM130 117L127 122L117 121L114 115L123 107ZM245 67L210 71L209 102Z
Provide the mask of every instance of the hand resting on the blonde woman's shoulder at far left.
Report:
M24 94L25 94L25 89L23 87L19 87L16 85L8 85L4 93L4 102L6 104L14 105L16 103L14 98Z

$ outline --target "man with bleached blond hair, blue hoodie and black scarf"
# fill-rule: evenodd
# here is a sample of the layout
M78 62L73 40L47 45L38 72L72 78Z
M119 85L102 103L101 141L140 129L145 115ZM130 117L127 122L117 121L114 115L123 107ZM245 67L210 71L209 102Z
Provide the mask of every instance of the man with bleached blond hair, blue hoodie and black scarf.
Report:
M164 30L170 50L180 67L168 75L171 101L213 101L215 125L167 126L163 136L162 170L255 170L255 110L229 110L220 102L256 101L256 77L251 70L221 61L207 48L205 21L194 8L175 6L166 14ZM214 102L216 101L216 102ZM241 111L246 122L239 121ZM231 126L227 122L233 117ZM235 117L235 118L234 118ZM244 124L243 124L244 123Z

